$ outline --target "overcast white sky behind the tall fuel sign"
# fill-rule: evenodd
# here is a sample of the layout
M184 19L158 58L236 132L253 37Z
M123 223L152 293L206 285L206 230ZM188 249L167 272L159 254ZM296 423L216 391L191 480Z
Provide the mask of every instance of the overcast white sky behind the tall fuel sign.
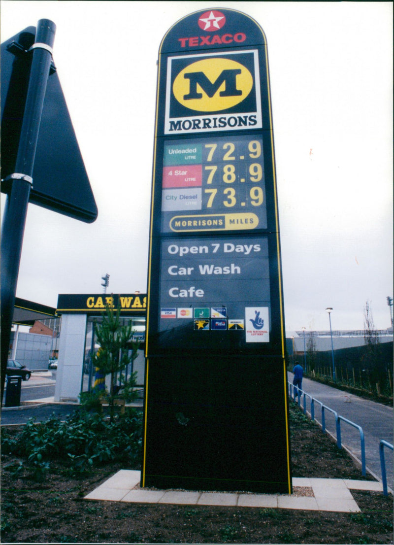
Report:
M286 330L362 329L393 295L391 2L2 0L1 40L57 25L57 66L99 209L86 224L29 205L17 296L147 288L156 59L199 9L252 16L268 40ZM2 195L2 198L4 196ZM4 199L3 199L4 201ZM2 207L3 209L3 207Z

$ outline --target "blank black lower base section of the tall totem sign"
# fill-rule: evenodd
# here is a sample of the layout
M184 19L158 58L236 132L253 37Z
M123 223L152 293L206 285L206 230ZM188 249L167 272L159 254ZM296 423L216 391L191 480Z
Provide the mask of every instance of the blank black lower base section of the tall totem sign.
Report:
M149 360L142 486L290 493L280 358Z

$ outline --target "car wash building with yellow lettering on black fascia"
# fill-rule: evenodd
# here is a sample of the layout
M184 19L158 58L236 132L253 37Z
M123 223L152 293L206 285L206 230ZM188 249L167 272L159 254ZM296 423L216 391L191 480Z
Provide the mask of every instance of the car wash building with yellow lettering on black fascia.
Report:
M59 358L54 401L78 401L81 392L89 391L95 379L92 354L99 349L95 327L102 321L105 305L120 307L123 322L130 323L134 340L140 341L138 356L126 370L137 372L137 385L144 384L144 341L146 295L127 294L60 294L57 314L62 316Z

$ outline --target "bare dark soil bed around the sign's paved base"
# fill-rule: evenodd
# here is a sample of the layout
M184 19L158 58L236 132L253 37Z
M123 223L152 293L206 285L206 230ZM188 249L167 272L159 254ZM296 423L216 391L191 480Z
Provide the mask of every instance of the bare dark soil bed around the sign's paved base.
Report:
M290 403L294 477L363 479L344 450ZM361 513L145 505L83 497L119 463L72 477L51 462L44 482L2 455L2 543L392 543L392 495L352 491ZM371 476L365 477L373 480Z

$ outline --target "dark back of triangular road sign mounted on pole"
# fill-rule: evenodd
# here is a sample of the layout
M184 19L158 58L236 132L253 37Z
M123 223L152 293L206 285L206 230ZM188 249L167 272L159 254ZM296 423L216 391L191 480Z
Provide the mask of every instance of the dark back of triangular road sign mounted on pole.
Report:
M25 108L35 27L1 45L2 179L15 172ZM7 181L2 191L8 192ZM72 127L56 69L48 78L29 202L84 222L93 222L97 207Z

